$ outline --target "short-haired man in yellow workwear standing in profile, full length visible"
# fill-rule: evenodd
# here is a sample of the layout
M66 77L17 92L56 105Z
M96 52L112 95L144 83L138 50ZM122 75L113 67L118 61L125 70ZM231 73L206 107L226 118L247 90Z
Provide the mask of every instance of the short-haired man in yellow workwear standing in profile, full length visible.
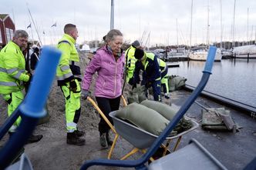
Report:
M79 67L79 54L76 51L76 38L78 31L76 25L67 24L64 27L64 35L59 40L58 48L62 56L57 67L57 79L66 102L66 130L67 144L85 145L86 140L82 137L85 133L77 129L81 107L80 96L81 72Z

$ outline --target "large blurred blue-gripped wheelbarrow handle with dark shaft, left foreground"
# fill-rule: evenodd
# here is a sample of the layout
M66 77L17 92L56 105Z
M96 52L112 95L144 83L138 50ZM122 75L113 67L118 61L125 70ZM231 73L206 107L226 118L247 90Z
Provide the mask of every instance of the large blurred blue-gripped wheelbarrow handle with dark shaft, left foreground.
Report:
M0 169L5 169L12 162L12 159L32 134L39 118L45 116L44 106L52 81L55 78L60 56L61 52L56 48L50 46L42 48L41 60L35 70L35 76L32 78L29 92L14 113L22 116L22 122L15 134L12 135L12 138L9 138L8 142L0 150ZM10 120L8 119L7 121Z

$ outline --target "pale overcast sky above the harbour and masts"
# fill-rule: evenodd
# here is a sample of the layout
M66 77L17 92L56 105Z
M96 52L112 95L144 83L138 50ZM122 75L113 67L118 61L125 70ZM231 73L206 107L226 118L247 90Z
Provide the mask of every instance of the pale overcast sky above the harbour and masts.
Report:
M38 39L29 10L43 44L56 44L66 23L79 30L78 43L101 40L110 28L111 0L1 0L0 13L8 13L16 29L25 29ZM127 42L144 35L150 45L190 44L191 0L115 0L114 28L123 32ZM194 0L192 45L207 42L207 9L209 7L210 42L221 41L221 6L223 41L232 41L234 0ZM209 2L209 5L208 5ZM221 5L222 4L222 5ZM29 10L28 10L29 8ZM51 26L56 23L56 27ZM234 39L255 39L256 1L236 0ZM45 32L45 35L42 34ZM150 35L150 36L149 36ZM177 36L178 35L178 36Z

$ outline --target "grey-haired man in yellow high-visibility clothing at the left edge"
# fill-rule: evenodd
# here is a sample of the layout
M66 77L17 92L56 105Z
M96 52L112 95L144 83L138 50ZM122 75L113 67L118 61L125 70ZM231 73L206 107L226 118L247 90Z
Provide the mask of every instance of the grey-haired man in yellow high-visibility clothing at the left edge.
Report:
M24 30L16 30L12 41L8 42L0 52L0 94L8 103L8 116L24 99L24 84L29 83L32 75L25 71L25 50L29 35ZM8 130L11 136L19 126L22 118L19 117ZM28 142L39 142L42 135L31 135Z

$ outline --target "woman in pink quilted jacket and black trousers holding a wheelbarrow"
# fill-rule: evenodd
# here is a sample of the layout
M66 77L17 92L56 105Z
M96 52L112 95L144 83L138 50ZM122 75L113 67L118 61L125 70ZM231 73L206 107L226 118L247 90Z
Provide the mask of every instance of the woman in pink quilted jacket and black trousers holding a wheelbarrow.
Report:
M120 97L122 95L122 80L125 58L121 48L123 34L116 29L110 30L106 35L106 45L97 50L93 59L89 62L83 78L82 95L87 98L89 86L94 73L97 72L94 94L99 108L106 118L113 123L109 112L119 109ZM104 148L112 145L109 139L109 125L100 116L99 143Z

